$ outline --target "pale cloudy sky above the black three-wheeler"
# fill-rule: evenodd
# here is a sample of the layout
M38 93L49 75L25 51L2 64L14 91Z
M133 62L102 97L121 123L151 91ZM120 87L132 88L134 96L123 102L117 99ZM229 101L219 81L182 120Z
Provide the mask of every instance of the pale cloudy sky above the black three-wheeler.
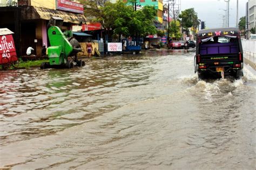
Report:
M178 1L178 0L176 0ZM245 16L245 5L248 0L239 0L238 18ZM223 26L227 3L224 0L181 0L181 10L194 8L198 18L205 21L207 28ZM230 0L230 27L235 27L237 17L237 0Z

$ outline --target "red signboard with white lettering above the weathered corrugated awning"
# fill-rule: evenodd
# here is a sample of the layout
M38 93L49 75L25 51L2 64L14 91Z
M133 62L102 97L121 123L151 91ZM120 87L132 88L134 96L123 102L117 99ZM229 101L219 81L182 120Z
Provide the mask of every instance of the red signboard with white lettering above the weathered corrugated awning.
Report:
M84 5L76 2L71 2L68 0L56 0L56 9L75 12L75 13L84 13Z

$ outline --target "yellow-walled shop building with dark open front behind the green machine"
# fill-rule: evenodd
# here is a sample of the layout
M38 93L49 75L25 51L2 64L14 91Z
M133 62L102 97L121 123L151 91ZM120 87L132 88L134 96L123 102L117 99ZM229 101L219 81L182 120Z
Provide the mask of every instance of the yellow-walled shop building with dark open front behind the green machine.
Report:
M11 3L12 4L12 3ZM42 46L49 45L47 29L51 17L63 19L62 30L71 30L74 24L83 24L83 5L68 0L18 0L17 5L0 7L0 28L13 31L17 55L25 55L32 46L41 55Z

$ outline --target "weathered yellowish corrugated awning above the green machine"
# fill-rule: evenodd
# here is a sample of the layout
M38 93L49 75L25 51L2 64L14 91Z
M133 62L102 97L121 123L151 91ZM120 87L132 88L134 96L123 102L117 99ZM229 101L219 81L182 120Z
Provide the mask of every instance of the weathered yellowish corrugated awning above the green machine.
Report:
M22 19L44 19L50 20L51 17L60 17L65 23L80 24L86 22L84 15L79 13L65 12L36 6L27 6L22 9Z

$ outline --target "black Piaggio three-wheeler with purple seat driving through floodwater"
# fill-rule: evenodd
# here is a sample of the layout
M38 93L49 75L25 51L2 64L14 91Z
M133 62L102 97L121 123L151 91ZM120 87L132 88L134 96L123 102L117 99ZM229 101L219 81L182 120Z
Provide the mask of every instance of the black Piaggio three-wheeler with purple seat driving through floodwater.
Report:
M243 55L239 30L221 28L200 30L194 56L194 72L199 79L206 77L243 76Z

